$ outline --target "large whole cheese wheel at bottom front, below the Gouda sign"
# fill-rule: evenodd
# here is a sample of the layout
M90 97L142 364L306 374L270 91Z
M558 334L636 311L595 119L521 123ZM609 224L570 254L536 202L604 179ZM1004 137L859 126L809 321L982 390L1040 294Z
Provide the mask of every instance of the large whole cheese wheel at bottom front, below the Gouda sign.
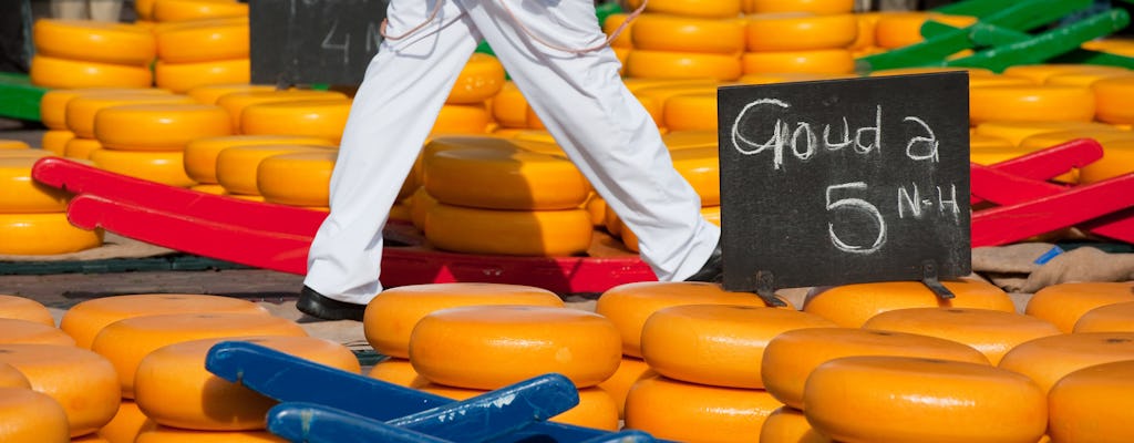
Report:
M807 421L837 441L1035 442L1048 416L1046 393L1027 377L912 357L824 363L807 377L803 401Z

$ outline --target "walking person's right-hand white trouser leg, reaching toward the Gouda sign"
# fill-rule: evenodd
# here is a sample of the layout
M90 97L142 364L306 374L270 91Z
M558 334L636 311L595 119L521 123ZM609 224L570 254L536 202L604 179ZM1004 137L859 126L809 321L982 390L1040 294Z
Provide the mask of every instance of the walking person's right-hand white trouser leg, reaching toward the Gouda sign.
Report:
M465 6L543 125L637 235L642 258L658 279L696 273L717 246L720 229L701 216L701 198L674 169L657 126L619 77L613 51L573 54L516 27L518 19L544 42L591 48L606 39L594 2L452 1Z

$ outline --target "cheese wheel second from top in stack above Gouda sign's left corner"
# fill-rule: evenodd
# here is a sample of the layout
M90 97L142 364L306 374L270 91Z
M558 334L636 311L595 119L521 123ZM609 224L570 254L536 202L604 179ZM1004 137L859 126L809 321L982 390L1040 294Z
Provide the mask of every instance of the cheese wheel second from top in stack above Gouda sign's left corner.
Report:
M736 54L744 51L741 19L644 14L634 20L635 50Z

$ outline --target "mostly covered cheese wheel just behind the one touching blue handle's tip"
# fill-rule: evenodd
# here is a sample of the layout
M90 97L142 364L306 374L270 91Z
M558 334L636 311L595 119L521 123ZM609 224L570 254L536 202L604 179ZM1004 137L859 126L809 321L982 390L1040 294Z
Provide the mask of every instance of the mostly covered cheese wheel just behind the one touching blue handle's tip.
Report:
M263 314L163 314L119 320L99 331L91 350L107 357L118 373L122 397L134 398L138 364L158 348L184 341L245 336L306 336L294 322Z

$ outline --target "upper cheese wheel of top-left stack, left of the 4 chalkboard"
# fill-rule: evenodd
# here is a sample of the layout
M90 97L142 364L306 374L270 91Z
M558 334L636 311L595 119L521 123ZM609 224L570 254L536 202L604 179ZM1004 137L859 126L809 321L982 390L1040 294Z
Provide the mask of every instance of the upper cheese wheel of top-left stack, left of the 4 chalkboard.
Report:
M37 54L67 60L145 67L158 53L153 33L125 23L43 18L32 40Z

